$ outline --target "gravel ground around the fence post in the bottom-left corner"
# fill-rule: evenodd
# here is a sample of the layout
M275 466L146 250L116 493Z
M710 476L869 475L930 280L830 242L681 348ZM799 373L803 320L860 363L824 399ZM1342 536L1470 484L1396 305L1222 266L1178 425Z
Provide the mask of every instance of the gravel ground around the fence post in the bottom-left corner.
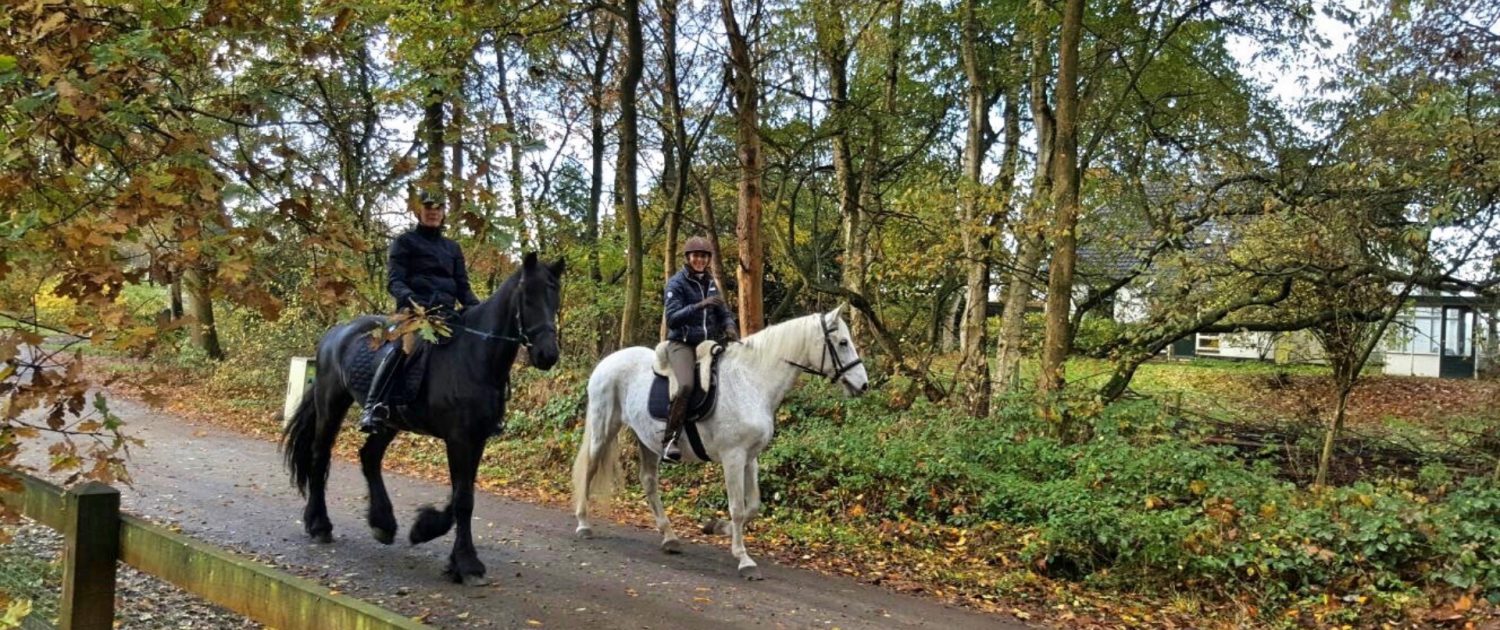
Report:
M24 628L56 626L62 594L63 537L51 528L22 520L15 538L0 544L0 591L32 597ZM116 574L117 628L258 628L260 624L207 603L153 576L120 566ZM21 591L21 592L14 592Z

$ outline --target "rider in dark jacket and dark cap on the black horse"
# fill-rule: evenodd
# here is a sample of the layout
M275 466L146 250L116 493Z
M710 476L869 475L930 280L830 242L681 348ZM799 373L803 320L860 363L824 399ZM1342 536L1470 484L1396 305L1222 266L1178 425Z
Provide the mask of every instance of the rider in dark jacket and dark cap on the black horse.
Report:
M464 250L442 236L442 220L447 218L442 198L426 189L417 198L422 202L417 226L390 242L386 290L396 298L396 310L422 306L429 315L452 318L458 315L458 309L478 304L478 297L470 288ZM364 396L362 432L380 430L390 416L386 404L390 378L399 372L405 358L400 344L386 344L369 394Z

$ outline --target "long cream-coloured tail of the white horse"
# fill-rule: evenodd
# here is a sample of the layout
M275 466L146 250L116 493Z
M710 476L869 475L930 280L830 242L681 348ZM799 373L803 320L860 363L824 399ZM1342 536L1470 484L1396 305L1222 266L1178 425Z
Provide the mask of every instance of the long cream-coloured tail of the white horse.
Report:
M614 496L626 476L616 444L624 422L615 390L614 382L594 382L590 378L584 441L573 458L573 508L580 514L590 500Z

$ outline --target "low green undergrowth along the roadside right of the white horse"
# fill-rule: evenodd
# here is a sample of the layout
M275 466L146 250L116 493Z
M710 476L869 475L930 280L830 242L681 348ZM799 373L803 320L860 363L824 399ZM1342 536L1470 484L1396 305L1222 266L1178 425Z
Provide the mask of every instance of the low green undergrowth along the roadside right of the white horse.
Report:
M762 458L788 513L988 522L1035 532L1023 558L1062 578L1130 588L1244 590L1278 606L1322 592L1400 602L1440 584L1500 596L1500 489L1446 496L1412 483L1311 494L1268 464L1158 432L1154 404L1094 418L1094 440L1042 435L1024 404L975 420L918 402L904 414L804 386ZM1419 486L1450 484L1446 471Z

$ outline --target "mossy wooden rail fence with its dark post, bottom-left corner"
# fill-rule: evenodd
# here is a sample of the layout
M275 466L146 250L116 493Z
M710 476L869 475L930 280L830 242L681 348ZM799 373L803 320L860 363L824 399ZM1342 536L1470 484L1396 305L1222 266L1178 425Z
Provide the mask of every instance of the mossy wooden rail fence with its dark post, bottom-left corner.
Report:
M236 556L120 513L120 492L102 483L63 490L0 468L0 504L63 532L63 630L111 628L116 561L278 628L424 628L316 582Z

